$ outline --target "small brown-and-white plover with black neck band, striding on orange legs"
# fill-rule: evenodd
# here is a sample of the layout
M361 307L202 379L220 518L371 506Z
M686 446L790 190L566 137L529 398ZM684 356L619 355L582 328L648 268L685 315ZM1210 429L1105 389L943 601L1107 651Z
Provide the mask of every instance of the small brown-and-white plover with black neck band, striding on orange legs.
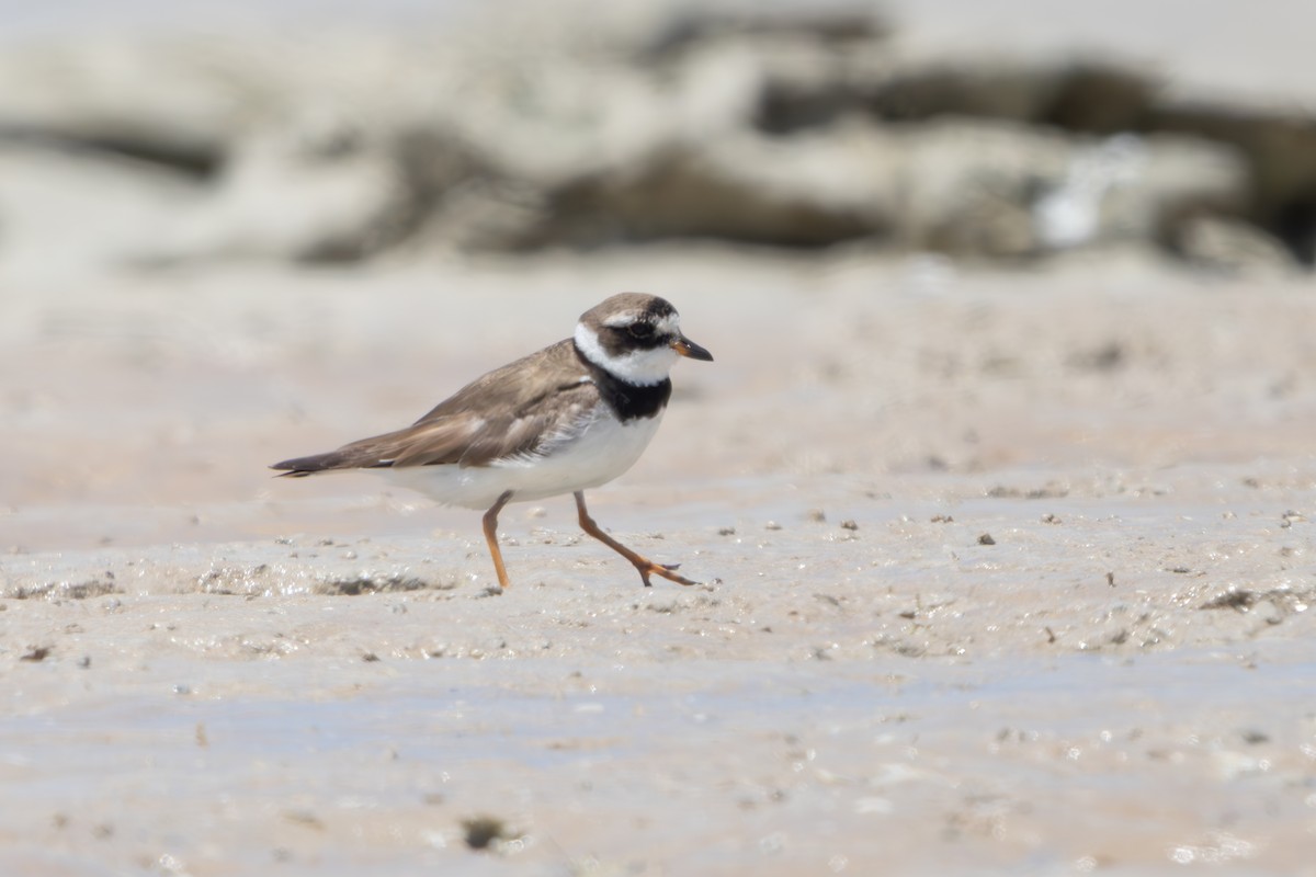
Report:
M367 471L442 505L484 510L483 530L503 590L511 588L497 543L509 502L571 493L580 527L650 576L679 585L680 564L659 564L595 522L584 492L629 469L658 430L671 397L672 366L713 355L680 330L666 298L626 292L580 316L575 333L475 379L405 429L337 451L275 463L283 477Z

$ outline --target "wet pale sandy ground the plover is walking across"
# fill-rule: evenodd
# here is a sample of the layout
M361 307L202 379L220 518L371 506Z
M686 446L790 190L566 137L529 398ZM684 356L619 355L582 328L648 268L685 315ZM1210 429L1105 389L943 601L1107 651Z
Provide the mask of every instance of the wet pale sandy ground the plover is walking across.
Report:
M709 584L562 498L496 594L476 513L267 477L621 289L717 362L591 508ZM705 249L16 291L0 872L1316 873L1312 291Z

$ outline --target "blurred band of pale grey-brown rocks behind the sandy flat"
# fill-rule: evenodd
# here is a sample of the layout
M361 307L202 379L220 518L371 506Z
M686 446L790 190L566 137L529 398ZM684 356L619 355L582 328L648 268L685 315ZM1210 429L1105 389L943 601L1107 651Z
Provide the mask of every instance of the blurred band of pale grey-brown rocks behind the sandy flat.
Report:
M591 28L530 4L445 38L5 50L0 145L82 183L0 183L0 268L28 258L24 214L61 210L68 260L134 264L674 237L1316 260L1307 114L1108 60L911 51L855 3L578 7ZM76 233L118 199L130 229Z

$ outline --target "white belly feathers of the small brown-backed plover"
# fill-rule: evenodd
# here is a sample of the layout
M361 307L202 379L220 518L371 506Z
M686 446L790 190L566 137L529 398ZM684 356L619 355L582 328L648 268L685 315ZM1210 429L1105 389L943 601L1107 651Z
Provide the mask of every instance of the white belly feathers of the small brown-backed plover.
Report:
M545 500L596 488L629 469L649 446L661 419L662 412L621 423L604 410L575 438L542 456L513 458L486 467L409 465L370 471L436 502L467 509L488 509L504 490L512 490L512 502Z

